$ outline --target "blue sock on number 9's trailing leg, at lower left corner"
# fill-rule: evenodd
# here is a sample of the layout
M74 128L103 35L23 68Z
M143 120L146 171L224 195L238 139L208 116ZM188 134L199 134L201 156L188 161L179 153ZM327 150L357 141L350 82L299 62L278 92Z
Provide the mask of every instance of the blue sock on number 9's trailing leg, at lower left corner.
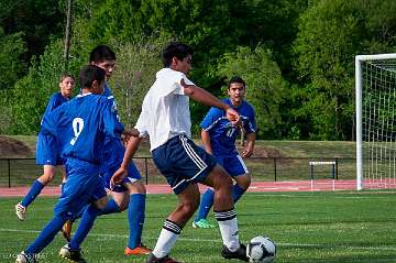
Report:
M54 216L53 219L44 227L34 242L25 250L26 254L37 254L45 246L47 246L51 241L53 241L57 232L59 232L65 221L66 220L63 217Z

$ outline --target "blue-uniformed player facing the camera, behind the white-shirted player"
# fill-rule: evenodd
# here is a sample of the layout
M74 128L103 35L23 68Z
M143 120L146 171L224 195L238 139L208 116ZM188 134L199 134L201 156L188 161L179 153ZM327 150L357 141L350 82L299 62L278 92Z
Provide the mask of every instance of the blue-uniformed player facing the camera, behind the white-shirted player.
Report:
M223 100L240 114L240 127L233 125L227 119L226 112L218 108L211 108L200 124L205 150L212 154L216 161L235 180L232 187L234 202L241 198L251 184L251 176L242 158L250 157L253 154L255 143L255 113L253 107L244 100L245 92L245 81L241 77L232 77L228 86L229 98ZM241 154L242 156L235 147L240 129L244 129L246 132L246 145ZM208 188L204 193L198 215L193 221L194 228L216 227L207 220L209 210L213 205L213 197L212 188Z

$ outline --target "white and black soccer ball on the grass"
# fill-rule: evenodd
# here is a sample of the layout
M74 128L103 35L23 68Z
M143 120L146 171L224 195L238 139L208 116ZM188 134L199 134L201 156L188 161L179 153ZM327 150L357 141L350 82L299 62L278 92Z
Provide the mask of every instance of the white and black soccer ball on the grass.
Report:
M251 263L274 262L276 256L276 244L268 237L255 237L248 243L246 256Z

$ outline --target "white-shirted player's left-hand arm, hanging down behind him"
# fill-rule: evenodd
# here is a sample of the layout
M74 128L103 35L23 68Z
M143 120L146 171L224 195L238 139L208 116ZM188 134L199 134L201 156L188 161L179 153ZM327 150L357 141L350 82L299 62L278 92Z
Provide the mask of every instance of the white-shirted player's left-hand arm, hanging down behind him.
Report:
M113 174L113 176L110 179L110 185L114 186L117 184L121 184L122 179L128 176L128 167L131 163L132 156L135 154L135 152L139 149L139 144L141 143L142 138L132 136L127 145L127 150L124 153L124 157L122 160L122 164L118 171Z

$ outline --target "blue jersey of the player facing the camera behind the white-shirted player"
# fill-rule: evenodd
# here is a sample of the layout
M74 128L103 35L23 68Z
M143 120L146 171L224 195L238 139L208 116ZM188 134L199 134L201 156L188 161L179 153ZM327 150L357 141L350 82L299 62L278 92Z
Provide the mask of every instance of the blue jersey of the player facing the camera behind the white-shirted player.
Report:
M237 110L241 117L242 125L248 133L256 131L254 109L250 103L242 101L241 106L233 107L229 98L222 101ZM235 141L240 134L240 129L231 124L227 119L226 111L212 107L200 123L200 127L209 132L215 156L233 156L238 154Z

